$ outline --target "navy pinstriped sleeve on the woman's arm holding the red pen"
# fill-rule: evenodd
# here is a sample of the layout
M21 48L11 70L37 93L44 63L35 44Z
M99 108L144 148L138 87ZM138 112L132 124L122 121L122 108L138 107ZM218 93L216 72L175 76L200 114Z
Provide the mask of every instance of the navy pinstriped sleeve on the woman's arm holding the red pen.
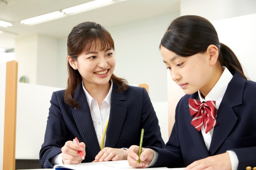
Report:
M66 125L62 117L56 92L53 92L49 108L49 116L44 137L44 143L39 152L41 168L53 168L52 158L61 153L61 147L66 142Z

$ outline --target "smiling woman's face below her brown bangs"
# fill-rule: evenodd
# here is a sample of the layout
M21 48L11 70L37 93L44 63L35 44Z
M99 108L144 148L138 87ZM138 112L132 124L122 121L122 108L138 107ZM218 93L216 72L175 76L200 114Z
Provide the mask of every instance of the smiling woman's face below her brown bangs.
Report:
M70 56L68 60L72 68L82 76L85 88L109 86L116 63L113 49L95 49L82 53L76 61Z

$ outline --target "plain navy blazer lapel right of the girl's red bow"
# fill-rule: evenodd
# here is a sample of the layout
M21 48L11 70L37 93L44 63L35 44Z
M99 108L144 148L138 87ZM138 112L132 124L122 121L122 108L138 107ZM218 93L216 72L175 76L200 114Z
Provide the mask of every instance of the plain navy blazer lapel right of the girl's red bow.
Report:
M232 108L242 104L244 86L245 80L236 72L229 82L219 106L218 116L216 118L217 125L214 128L209 148L211 155L215 154L223 144L238 120Z

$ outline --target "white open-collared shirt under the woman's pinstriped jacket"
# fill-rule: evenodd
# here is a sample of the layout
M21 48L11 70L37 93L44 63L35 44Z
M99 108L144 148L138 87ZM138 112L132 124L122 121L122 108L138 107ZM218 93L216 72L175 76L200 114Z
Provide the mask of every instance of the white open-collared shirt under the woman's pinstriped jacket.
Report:
M83 81L82 81L82 84L83 84ZM104 141L103 141L103 148L104 148L106 135L103 136L103 131L104 131L105 125L107 124L107 121L109 119L113 82L111 81L111 87L109 89L107 96L105 97L105 99L102 102L101 108L99 107L98 102L94 98L92 98L91 95L88 93L88 91L84 88L84 85L82 87L83 87L83 90L84 90L84 93L86 96L88 106L90 107L91 118L92 118L92 122L93 122L94 129L96 132L96 136L98 139L98 143L101 148L102 137L104 137ZM52 159L52 163L55 165L63 164L62 154L60 153L60 154L56 155Z

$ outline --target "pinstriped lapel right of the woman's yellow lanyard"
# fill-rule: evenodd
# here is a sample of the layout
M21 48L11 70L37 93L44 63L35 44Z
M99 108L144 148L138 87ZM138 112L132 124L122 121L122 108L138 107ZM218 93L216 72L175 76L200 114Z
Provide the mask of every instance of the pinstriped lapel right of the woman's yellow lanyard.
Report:
M118 88L119 87L113 83L105 147L115 148L126 117L127 106L123 102L126 100L126 97L123 91L116 91Z

